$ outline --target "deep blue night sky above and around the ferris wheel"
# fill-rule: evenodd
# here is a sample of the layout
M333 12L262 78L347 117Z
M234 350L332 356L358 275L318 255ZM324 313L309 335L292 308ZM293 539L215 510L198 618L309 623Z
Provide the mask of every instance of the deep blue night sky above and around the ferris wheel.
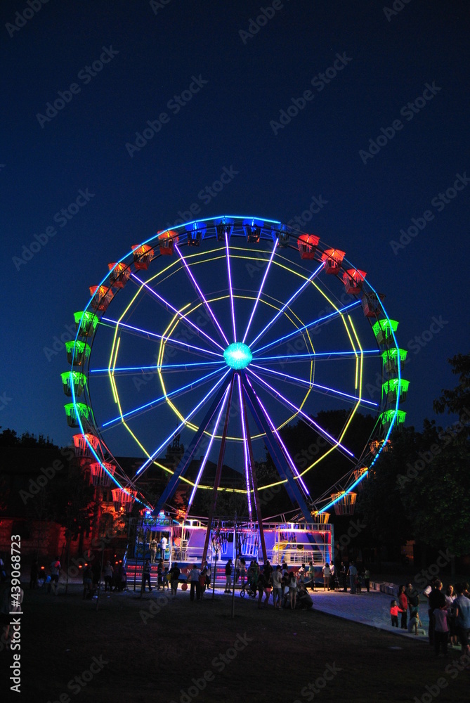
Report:
M433 418L469 351L465 1L4 0L0 17L2 427L70 441L60 373L89 286L218 214L297 217L346 251L400 322L407 424Z

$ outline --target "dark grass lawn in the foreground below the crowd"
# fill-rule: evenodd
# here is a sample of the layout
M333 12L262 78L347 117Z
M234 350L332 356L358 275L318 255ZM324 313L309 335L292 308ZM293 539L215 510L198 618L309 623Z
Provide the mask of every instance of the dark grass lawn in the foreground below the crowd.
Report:
M236 598L233 619L230 597L190 602L181 592L176 600L155 591L102 593L96 612L96 600L82 600L72 586L57 597L26 590L23 613L20 700L27 703L375 703L424 694L426 701L426 685L440 690L439 678L447 684L439 702L469 697L470 670L452 667L457 650L437 659L412 638L321 612L258 610L249 598ZM13 652L0 657L3 691ZM95 663L88 673L97 660L101 668ZM304 688L315 680L325 686Z

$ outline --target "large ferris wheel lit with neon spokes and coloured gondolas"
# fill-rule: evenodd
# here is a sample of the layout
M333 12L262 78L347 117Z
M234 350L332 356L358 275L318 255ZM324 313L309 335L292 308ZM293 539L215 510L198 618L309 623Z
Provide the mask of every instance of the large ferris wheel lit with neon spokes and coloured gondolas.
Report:
M279 485L300 520L332 507L351 514L405 419L408 382L398 323L345 252L278 221L192 221L133 245L90 294L66 345L65 411L94 482L115 485L115 503L139 501L157 514L184 484L185 517L209 491L211 519L218 491L228 490L261 521L259 491ZM341 411L341 430L322 425L320 411ZM373 428L358 449L360 412ZM288 448L285 432L299 422L318 438L315 452ZM175 441L185 449L169 465ZM275 480L256 475L266 450ZM132 473L116 458L129 455L142 458ZM318 494L332 458L341 475ZM223 483L227 465L232 487ZM168 477L153 503L143 488L149 470Z

